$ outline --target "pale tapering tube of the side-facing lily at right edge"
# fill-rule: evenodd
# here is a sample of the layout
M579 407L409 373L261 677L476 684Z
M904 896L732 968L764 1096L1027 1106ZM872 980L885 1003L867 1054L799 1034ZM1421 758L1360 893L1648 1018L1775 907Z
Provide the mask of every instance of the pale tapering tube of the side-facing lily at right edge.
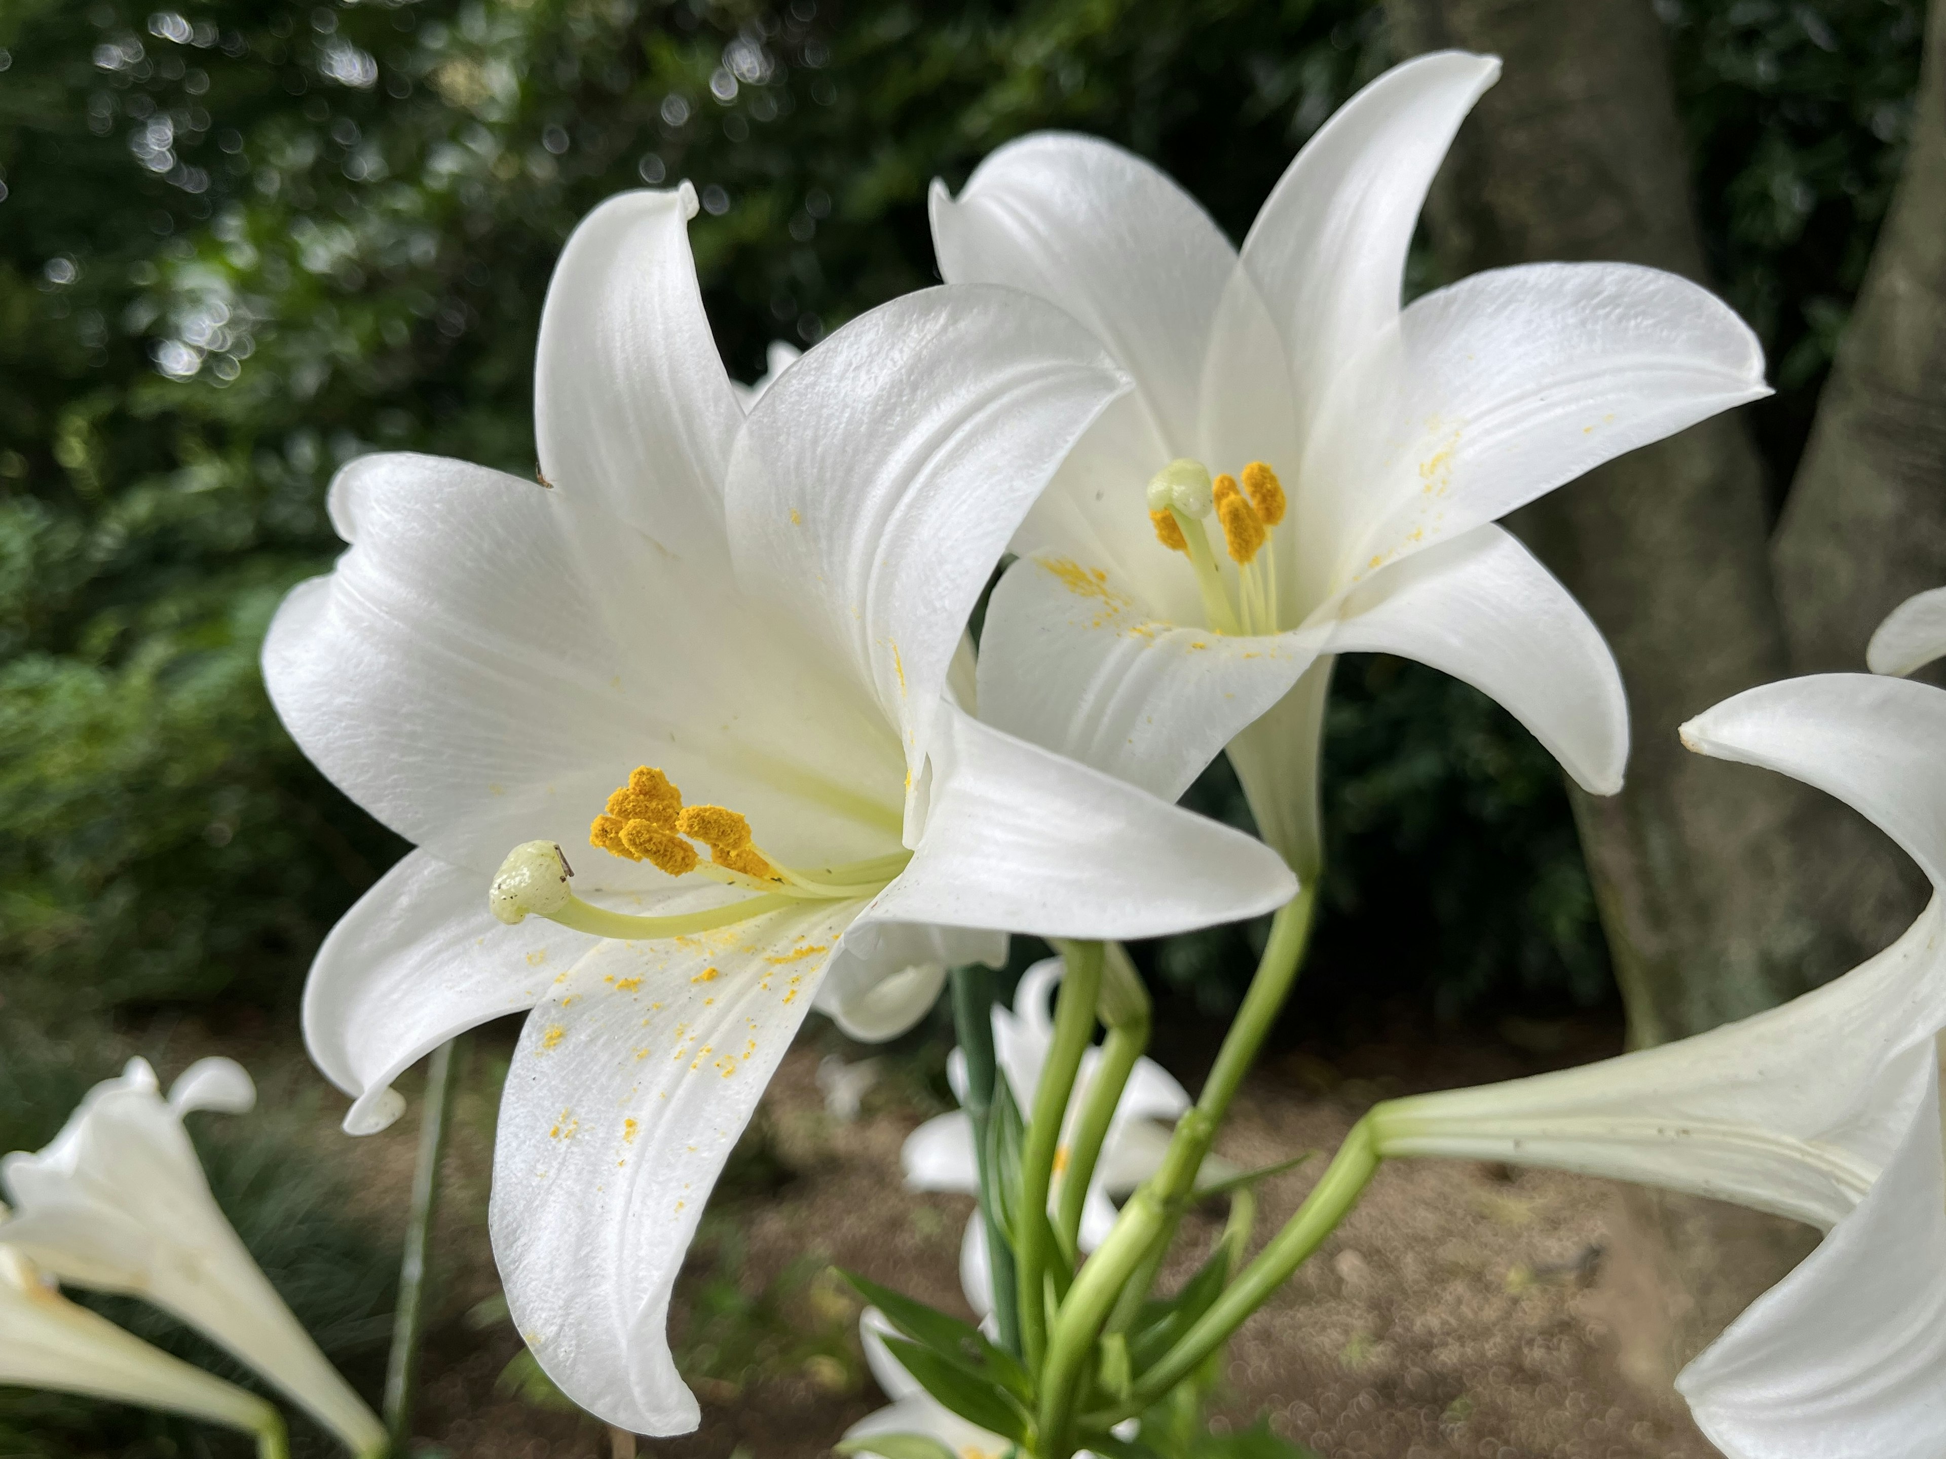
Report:
M1395 1101L1380 1146L1640 1181L1829 1228L1903 1138L1940 1027L1934 897L1892 947L1783 1008L1600 1064ZM1915 1049L1927 1056L1901 1058Z

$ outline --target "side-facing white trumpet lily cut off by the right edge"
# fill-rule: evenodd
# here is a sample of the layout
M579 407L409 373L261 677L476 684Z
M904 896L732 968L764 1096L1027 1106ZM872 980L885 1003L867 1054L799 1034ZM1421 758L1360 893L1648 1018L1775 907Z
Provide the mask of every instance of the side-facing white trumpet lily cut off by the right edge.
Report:
M1393 1101L1387 1156L1607 1175L1829 1235L1677 1379L1732 1459L1936 1459L1946 1434L1946 693L1821 675L1738 694L1691 749L1845 800L1932 879L1886 951L1783 1008L1586 1068Z

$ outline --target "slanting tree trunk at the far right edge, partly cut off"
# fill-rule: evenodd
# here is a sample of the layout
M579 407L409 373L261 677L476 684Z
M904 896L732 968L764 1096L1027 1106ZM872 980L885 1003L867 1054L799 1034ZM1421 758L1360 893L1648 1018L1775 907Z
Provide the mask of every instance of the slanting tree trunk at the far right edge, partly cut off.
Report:
M1856 669L1880 619L1946 584L1946 0L1911 150L1775 541L1790 659Z

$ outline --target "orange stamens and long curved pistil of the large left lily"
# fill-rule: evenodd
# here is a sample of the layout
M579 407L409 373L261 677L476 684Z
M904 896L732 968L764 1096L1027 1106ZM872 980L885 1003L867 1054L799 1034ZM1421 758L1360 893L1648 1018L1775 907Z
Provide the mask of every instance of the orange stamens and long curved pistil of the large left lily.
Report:
M677 938L804 903L876 897L913 860L901 850L843 866L786 866L755 844L741 813L726 805L683 805L681 792L648 765L636 766L629 784L607 798L605 811L588 829L588 844L621 860L648 862L671 877L699 873L749 895L675 916L611 912L574 895L574 870L557 842L529 840L500 864L486 893L492 914L510 926L545 916L576 932L625 942ZM708 848L708 860L697 844Z

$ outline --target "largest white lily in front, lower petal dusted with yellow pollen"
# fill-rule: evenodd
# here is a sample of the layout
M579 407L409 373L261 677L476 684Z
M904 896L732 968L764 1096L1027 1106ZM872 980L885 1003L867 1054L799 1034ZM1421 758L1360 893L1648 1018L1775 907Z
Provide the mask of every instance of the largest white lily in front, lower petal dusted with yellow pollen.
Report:
M352 549L265 646L298 743L418 846L306 988L346 1128L393 1119L391 1080L459 1029L533 1010L494 1253L549 1375L640 1434L697 1424L669 1292L813 998L883 1035L944 965L998 961L1000 930L1150 936L1294 889L1249 838L950 693L992 562L1123 389L1092 337L1008 290L926 290L745 416L693 212L687 185L631 193L568 239L535 368L545 484L352 463L331 490ZM582 901L560 846L590 835Z

